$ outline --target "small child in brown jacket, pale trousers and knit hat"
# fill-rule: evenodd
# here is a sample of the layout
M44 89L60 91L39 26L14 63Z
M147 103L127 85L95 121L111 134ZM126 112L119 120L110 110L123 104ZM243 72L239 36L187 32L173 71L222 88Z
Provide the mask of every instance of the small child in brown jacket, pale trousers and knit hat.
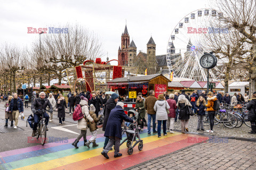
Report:
M87 141L85 143L85 145L90 148L90 143L92 143L92 147L98 147L99 145L96 143L96 138L97 138L97 122L99 122L101 115L99 115L97 117L97 115L95 114L95 107L91 104L90 105L90 115L93 118L93 123L89 122L89 128L90 128L90 132L92 133L92 137L89 139L89 141ZM87 118L87 117L86 117Z

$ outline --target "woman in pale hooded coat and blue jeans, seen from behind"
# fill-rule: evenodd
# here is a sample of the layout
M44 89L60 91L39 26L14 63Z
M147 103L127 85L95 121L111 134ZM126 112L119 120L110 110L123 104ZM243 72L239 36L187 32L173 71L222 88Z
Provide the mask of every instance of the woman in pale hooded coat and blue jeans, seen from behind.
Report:
M157 134L158 138L161 137L161 125L163 124L163 131L164 135L166 135L166 121L168 119L167 111L169 110L170 106L165 100L165 97L163 94L158 96L158 99L155 103L154 110L156 111L156 120L157 120Z

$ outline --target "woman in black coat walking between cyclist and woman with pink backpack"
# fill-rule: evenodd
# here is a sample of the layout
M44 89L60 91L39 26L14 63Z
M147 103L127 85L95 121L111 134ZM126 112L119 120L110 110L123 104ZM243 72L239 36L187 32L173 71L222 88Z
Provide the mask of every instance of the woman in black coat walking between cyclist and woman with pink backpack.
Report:
M58 102L57 102L57 106L56 106L56 112L58 111L58 117L59 117L59 124L62 124L62 122L65 122L65 108L67 111L67 103L65 98L62 96L62 94L59 95L58 97ZM62 121L61 121L62 119Z

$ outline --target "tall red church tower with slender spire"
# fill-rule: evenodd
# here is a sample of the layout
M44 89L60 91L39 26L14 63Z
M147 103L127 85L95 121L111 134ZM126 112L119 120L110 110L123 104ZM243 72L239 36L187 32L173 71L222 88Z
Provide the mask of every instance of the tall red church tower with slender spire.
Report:
M118 49L118 61L120 65L128 65L128 47L130 46L130 36L125 25L124 32L121 36L121 48Z

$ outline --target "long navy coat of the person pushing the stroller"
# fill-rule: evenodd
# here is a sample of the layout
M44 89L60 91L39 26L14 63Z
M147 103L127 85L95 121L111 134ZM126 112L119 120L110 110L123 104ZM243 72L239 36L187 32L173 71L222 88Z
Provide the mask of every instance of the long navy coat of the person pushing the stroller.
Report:
M117 137L122 139L121 124L123 123L123 121L133 123L133 120L124 113L122 107L116 106L114 109L111 110L109 114L104 136Z

